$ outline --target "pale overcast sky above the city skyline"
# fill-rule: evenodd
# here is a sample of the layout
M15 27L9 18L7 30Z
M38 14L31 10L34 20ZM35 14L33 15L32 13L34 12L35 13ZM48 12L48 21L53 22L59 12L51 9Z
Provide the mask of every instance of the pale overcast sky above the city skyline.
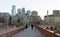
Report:
M60 0L0 0L0 12L11 13L12 5L16 5L16 9L25 7L26 10L36 10L41 18L47 15L47 10L49 14L60 10Z

